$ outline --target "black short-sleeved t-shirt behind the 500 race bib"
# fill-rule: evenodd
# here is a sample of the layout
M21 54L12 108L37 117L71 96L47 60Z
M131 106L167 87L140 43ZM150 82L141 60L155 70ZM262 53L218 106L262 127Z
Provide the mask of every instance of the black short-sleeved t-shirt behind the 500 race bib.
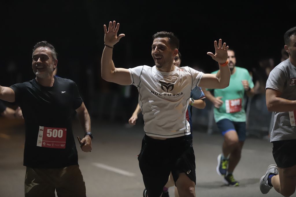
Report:
M83 101L75 82L54 77L52 87L41 86L36 79L33 79L12 85L10 88L15 92L15 101L22 109L25 119L24 166L60 168L78 164L71 117ZM46 127L52 129L47 130ZM54 128L66 128L66 132L60 132L59 129L54 131ZM44 141L46 135L55 138ZM63 147L49 148L56 147L54 144L58 140L54 139L58 139L60 135L65 137L65 144L61 145ZM42 145L43 143L46 147Z

